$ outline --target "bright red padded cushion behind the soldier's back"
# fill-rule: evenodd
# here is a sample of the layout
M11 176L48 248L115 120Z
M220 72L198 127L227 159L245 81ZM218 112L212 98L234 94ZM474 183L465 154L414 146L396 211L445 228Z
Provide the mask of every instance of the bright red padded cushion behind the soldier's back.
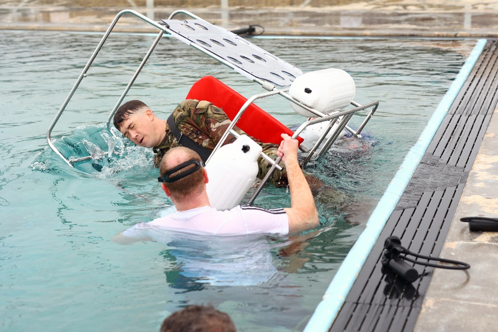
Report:
M247 99L225 85L213 76L205 76L195 82L187 94L186 99L205 100L220 107L233 120L241 110ZM244 130L249 136L256 137L265 143L280 144L281 133L292 136L294 133L276 118L263 111L258 106L251 104L237 122L237 126ZM303 142L297 137L299 144Z

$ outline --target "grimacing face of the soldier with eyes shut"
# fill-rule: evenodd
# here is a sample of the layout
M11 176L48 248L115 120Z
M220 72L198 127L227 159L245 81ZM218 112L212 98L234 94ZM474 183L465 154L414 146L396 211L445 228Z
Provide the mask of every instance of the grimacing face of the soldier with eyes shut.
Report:
M122 122L120 131L136 145L154 147L164 137L163 130L157 126L159 121L150 110L138 111Z

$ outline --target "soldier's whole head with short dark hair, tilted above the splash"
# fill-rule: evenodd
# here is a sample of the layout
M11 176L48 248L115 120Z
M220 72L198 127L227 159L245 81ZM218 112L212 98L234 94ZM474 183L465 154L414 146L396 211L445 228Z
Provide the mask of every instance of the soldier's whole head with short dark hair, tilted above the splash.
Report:
M166 134L164 121L139 100L126 102L116 111L114 126L124 137L144 147L159 145Z

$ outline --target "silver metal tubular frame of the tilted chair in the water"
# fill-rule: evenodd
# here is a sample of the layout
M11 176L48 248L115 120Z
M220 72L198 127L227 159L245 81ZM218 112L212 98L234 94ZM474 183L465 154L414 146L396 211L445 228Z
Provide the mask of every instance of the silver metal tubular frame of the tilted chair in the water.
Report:
M252 103L254 103L254 101L257 100L257 99L261 99L261 98L265 98L265 97L269 97L269 96L273 96L273 95L280 95L283 98L287 99L289 102L294 103L294 104L302 107L303 109L305 109L307 111L310 111L311 113L313 113L313 114L315 114L317 116L316 118L309 119L306 122L304 122L303 124L301 124L299 126L299 128L292 135L293 138L296 138L297 136L299 136L299 134L307 126L309 126L309 125L320 123L320 122L324 122L324 121L329 121L329 123L326 126L326 129L322 132L322 134L320 135L318 141L314 144L314 146L311 149L308 148L308 147L306 147L306 146L304 146L304 144L301 144L301 147L300 147L301 151L304 151L304 152L308 153L307 156L305 157L304 161L301 164L301 167L303 167L303 168L306 167L307 163L311 160L312 156L315 153L317 154L317 158L319 158L324 153L326 153L329 150L329 148L332 146L332 144L335 142L335 140L339 137L339 134L342 132L343 129L346 129L346 130L350 131L356 137L361 137L361 131L363 130L363 128L365 127L365 125L370 120L370 118L372 117L373 113L375 112L375 110L378 107L378 102L371 102L371 103L368 103L368 104L365 104L365 105L360 105L360 104L352 101L351 105L354 106L353 109L348 109L348 110L343 110L343 111L336 111L336 112L334 112L332 114L321 113L320 111L317 111L317 110L315 110L313 108L310 108L310 107L308 107L308 106L306 106L306 105L304 105L304 104L296 101L295 99L293 99L290 95L287 94L288 88L284 88L284 89L278 90L270 82L264 81L262 79L259 79L259 78L255 77L255 76L251 77L250 73L244 73L244 72L240 71L239 70L240 68L234 67L234 65L232 65L230 62L228 62L225 59L223 59L221 56L219 56L219 55L217 55L215 53L212 53L212 52L208 52L207 50L205 50L204 48L200 47L199 45L191 42L189 39L187 39L187 38L185 38L185 37L177 34L173 30L170 30L167 22L158 23L158 22L155 22L155 21L149 19L148 17L146 17L146 16L144 16L144 15L142 15L142 14L140 14L140 13L134 11L134 10L125 9L125 10L122 10L121 12L119 12L116 15L116 17L114 18L114 20L112 21L111 25L109 26L109 28L107 29L106 33L102 37L100 43L98 44L98 46L96 47L96 49L93 52L92 56L88 60L87 64L85 65L85 67L83 69L83 71L81 72L80 76L78 77L76 83L74 84L73 88L71 89L69 95L67 96L66 100L62 104L61 108L57 112L55 118L53 119L52 123L50 124L50 126L49 126L49 128L47 130L47 142L48 142L48 145L50 146L50 148L57 155L59 155L71 167L74 167L73 164L76 163L76 162L80 162L80 161L91 159L91 156L81 157L81 158L75 158L75 159L67 159L54 146L54 144L53 144L53 142L51 140L51 137L50 137L51 133L52 133L52 130L53 130L55 124L57 123L57 121L59 120L60 116L62 115L62 112L66 109L69 101L73 97L73 95L74 95L76 89L78 88L78 86L80 85L81 81L85 77L87 77L88 69L90 68L90 66L94 62L95 58L97 57L98 53L102 49L102 47L103 47L105 41L107 40L107 38L109 37L111 31L116 26L118 20L124 14L134 15L137 18L139 18L139 19L141 19L141 20L143 20L143 21L151 24L152 26L158 28L160 30L160 32L157 35L157 37L155 38L155 40L152 43L152 45L150 46L150 48L148 49L148 51L145 54L145 56L143 57L142 61L140 62L139 66L138 66L138 68L136 69L135 73L133 74L133 76L131 77L129 83L127 84L126 88L124 89L123 94L120 96L118 102L116 103L115 107L113 108L113 110L109 114L109 116L107 118L108 129L110 129L111 119L113 118L114 114L116 113L116 111L118 110L119 106L123 102L126 94L128 93L128 91L131 88L131 86L133 85L133 83L135 82L138 74L141 72L142 68L144 67L144 65L147 62L147 60L149 59L150 55L154 51L154 49L157 46L159 40L163 37L164 33L167 33L169 35L173 35L175 38L177 38L177 39L185 42L186 44L188 44L189 46L197 49L198 51L202 52L203 54L206 54L206 55L210 56L211 58L217 60L218 62L223 63L227 67L236 70L240 74L242 74L242 75L248 77L249 79L251 79L253 82L256 82L256 83L260 84L263 89L267 90L267 92L254 95L254 96L252 96L251 98L249 98L246 101L246 103L242 106L242 108L240 109L240 111L237 113L237 115L235 116L235 118L231 122L229 128L223 134L222 138L220 139L220 142L217 144L217 146L213 150L212 155L221 147L222 142L225 141L225 139L227 138L227 136L229 134L232 134L232 135L234 135L236 137L240 136L235 130L233 130L233 127L237 124L237 122L239 121L239 119L241 118L241 116L243 115L243 113L247 110L247 108ZM171 13L171 15L169 16L168 19L171 20L171 19L173 19L173 17L175 17L178 14L187 15L187 16L191 17L192 19L202 20L202 18L200 18L200 17L198 17L198 16L196 16L196 15L194 15L194 14L192 14L192 13L186 11L186 10L182 10L182 9L176 10L173 13ZM170 22L170 24L171 24L171 22ZM367 114L367 116L363 120L363 122L360 125L360 127L358 128L358 130L355 131L355 130L351 129L347 125L348 122L349 122L349 120L351 119L351 117L354 115L354 113L356 113L357 111L367 110L369 108L372 108L372 110L369 111L369 113ZM327 135L329 134L329 132L331 130L332 130L331 135L327 138ZM112 131L111 131L111 133L114 135L114 133ZM325 142L324 142L324 140L325 140ZM322 145L322 143L323 143L323 145ZM320 145L322 145L321 148L320 148ZM275 160L272 160L271 158L269 158L268 156L266 156L264 153L261 153L261 157L264 158L264 159L266 159L268 162L271 163L271 168L268 171L268 173L266 174L266 176L264 177L264 179L261 181L261 183L259 184L259 186L256 188L256 190L254 191L254 193L252 194L252 197L249 200L249 204L252 204L252 202L254 201L254 199L256 198L256 196L261 191L263 185L268 181L268 179L270 178L270 176L272 175L272 173L274 172L274 170L275 169L279 169L279 170L282 169L282 167L279 165L279 162L281 161L280 157L276 158ZM207 162L209 162L210 159L211 159L211 157L208 158Z

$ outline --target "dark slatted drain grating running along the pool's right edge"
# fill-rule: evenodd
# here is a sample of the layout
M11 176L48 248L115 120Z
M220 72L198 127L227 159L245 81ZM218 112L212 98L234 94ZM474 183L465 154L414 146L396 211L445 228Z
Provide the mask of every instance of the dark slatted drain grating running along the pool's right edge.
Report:
M330 331L413 331L434 268L405 282L382 269L384 240L439 257L498 93L498 42L488 41L366 260ZM412 263L409 263L413 266ZM382 270L382 271L381 271Z

